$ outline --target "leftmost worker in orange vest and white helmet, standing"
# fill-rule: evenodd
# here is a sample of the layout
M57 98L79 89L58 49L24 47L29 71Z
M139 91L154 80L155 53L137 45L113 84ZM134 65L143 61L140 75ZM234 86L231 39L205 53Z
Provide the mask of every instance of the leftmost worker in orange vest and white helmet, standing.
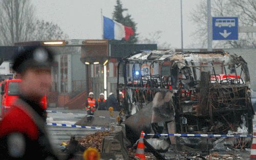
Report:
M89 97L86 101L86 110L87 110L87 122L90 123L95 111L96 100L93 98L94 94L89 93Z

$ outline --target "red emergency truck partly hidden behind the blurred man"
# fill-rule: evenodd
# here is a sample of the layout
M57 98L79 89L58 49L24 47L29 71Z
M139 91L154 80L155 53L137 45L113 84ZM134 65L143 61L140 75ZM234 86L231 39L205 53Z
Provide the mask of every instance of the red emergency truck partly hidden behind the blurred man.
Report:
M1 110L0 117L3 117L5 113L10 109L11 105L16 101L19 95L18 84L21 82L21 79L7 79L1 82ZM42 107L47 108L47 98L46 96L41 99Z

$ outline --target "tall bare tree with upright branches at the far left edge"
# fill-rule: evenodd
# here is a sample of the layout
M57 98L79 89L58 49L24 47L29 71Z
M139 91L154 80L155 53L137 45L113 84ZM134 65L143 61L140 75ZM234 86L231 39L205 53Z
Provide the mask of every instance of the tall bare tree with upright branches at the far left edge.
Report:
M28 0L3 0L0 5L2 45L27 41L34 31L33 6Z

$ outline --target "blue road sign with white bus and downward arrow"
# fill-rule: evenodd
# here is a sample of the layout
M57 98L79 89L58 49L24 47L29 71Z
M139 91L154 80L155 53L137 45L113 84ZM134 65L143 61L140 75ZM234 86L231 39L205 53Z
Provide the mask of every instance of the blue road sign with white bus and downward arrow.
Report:
M212 17L212 40L238 40L238 17Z

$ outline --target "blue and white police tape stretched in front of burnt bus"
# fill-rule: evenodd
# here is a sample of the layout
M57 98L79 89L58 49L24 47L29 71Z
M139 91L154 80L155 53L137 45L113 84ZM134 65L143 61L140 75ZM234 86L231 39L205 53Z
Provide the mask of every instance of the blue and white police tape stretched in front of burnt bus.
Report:
M242 138L242 137L248 137L253 138L256 136L253 136L251 134L243 135L243 134L179 134L179 133L167 133L167 134L146 134L141 133L144 136L145 135L158 135L158 136L182 136L182 137L236 137L236 138Z

